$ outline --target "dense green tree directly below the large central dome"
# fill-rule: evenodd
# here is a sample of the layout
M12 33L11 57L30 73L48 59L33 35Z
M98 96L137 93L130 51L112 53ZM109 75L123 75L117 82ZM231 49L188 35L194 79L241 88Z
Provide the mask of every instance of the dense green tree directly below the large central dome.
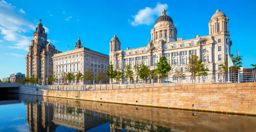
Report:
M156 72L160 75L160 78L166 77L167 73L171 70L171 66L168 64L166 57L160 57L156 66Z

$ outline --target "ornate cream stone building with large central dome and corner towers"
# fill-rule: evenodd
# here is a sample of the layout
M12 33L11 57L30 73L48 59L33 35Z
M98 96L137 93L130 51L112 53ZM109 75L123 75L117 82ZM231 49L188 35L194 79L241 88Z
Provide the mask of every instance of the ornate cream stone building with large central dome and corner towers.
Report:
M220 65L224 64L227 59L226 46L229 49L232 45L229 39L228 21L225 13L217 9L208 24L209 35L202 37L195 35L193 39L183 40L177 38L178 32L173 19L166 14L166 10L163 8L161 16L157 18L151 29L151 40L145 47L133 49L127 47L126 50L121 50L121 41L115 35L109 43L109 60L114 64L115 70L124 70L125 65L130 65L134 70L135 65L144 64L154 71L159 58L166 57L172 69L168 74L168 80L176 83L188 83L192 80L192 73L188 72L186 67L189 64L189 57L196 54L203 60L205 68L209 70L208 75L204 75L200 79L205 82L223 81L221 75L217 73L221 72ZM177 75L177 71L182 74ZM180 80L177 79L179 76ZM137 79L122 81L134 80Z

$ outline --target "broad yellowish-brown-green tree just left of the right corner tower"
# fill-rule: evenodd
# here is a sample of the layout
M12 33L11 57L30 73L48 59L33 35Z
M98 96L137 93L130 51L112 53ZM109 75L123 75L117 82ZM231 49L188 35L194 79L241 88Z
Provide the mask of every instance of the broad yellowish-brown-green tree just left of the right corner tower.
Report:
M192 54L189 58L189 64L186 67L187 68L187 72L191 72L192 73L192 78L194 79L194 77L198 76L198 81L200 80L200 76L201 75L207 75L206 71L209 71L207 69L205 69L205 64L203 64L203 60L199 59L199 57L196 54ZM192 80L193 82L193 80Z

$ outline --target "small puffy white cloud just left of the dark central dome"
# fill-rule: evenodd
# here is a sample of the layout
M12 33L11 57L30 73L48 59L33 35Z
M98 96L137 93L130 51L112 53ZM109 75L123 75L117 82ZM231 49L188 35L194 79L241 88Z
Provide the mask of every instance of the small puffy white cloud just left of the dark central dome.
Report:
M163 7L167 9L168 5L157 3L156 7L154 8L145 7L145 9L140 9L138 14L132 15L134 20L128 21L132 24L132 26L151 25L155 22L155 16L161 15Z

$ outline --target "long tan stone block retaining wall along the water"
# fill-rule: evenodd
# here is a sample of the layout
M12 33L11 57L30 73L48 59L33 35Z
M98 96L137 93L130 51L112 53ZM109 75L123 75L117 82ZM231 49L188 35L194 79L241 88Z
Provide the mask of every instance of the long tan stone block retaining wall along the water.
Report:
M256 83L195 84L102 91L46 91L20 87L19 93L138 106L256 115Z

